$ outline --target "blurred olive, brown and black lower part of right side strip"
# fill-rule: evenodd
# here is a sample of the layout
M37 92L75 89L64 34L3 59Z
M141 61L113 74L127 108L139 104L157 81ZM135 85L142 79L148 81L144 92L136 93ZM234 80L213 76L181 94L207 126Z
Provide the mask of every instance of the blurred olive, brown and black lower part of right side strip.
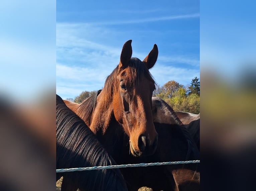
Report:
M256 190L255 79L201 70L201 190Z

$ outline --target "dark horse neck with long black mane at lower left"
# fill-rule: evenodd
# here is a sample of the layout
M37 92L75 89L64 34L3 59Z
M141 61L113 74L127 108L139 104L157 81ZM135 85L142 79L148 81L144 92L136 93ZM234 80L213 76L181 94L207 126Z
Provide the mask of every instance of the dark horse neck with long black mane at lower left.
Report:
M75 168L115 165L93 132L56 95L56 167ZM119 169L66 173L80 189L127 190ZM63 179L64 180L64 179Z

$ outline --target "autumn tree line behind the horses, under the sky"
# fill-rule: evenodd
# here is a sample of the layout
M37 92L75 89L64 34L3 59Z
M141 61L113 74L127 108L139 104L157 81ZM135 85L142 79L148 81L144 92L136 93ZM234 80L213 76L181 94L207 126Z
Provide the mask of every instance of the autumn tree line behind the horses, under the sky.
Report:
M66 100L81 103L95 94L96 91L83 91L75 99L67 98ZM173 80L163 86L156 85L153 96L163 99L174 111L200 113L200 79L197 77L192 79L190 85L186 87Z

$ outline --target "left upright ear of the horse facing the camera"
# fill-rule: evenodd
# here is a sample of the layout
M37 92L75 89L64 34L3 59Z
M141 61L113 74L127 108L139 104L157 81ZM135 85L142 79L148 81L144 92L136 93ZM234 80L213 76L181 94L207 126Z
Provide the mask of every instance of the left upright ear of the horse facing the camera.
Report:
M126 68L131 60L132 57L132 40L127 41L124 43L121 56L120 56L120 63L119 68Z

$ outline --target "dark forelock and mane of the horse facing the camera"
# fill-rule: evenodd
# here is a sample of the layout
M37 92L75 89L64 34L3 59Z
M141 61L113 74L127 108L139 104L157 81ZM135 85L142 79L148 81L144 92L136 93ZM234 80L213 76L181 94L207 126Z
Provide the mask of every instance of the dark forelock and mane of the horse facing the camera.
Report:
M152 81L155 84L155 81L147 69L146 65L141 62L138 58L131 58L129 66L126 68L128 71L124 74L124 78L127 80L128 84L134 88L134 91L138 88L138 82L142 76L145 76L148 80ZM104 95L103 102L105 106L110 105L113 99L114 92L117 91L118 82L116 77L122 73L122 70L117 66L114 71L107 77L105 81L105 86L102 90ZM106 108L105 108L106 109Z

